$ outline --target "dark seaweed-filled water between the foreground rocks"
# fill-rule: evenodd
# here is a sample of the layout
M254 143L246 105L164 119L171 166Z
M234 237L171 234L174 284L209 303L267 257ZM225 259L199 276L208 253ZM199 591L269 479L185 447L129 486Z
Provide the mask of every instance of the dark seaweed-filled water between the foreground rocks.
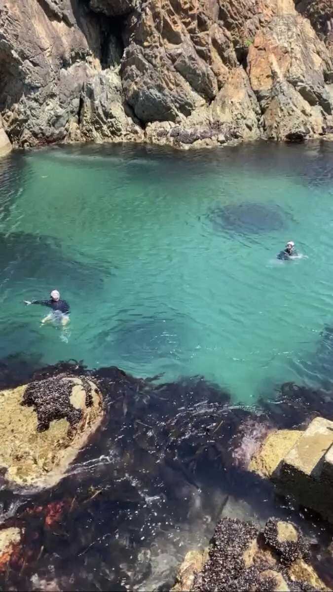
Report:
M56 485L31 491L2 482L0 542L12 537L10 552L0 545L2 590L169 590L182 556L210 539L228 508L261 523L291 518L313 541L324 575L331 570L329 527L277 497L248 464L268 430L333 419L333 392L286 383L250 410L203 377L161 383L76 361L37 369L38 360L29 374L23 362L2 363L1 388L28 382L23 404L37 405L41 430L59 414L79 420L65 400L61 410L50 398L66 377L97 385L104 414Z

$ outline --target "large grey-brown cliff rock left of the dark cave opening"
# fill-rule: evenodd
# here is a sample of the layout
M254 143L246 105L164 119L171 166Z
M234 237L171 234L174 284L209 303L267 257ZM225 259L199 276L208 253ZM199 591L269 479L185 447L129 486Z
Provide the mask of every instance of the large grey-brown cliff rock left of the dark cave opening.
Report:
M100 46L94 19L82 32L49 10L36 0L7 0L0 11L0 109L18 146L65 139L69 121L78 117L82 83L95 70L89 63ZM75 22L71 2L68 10Z

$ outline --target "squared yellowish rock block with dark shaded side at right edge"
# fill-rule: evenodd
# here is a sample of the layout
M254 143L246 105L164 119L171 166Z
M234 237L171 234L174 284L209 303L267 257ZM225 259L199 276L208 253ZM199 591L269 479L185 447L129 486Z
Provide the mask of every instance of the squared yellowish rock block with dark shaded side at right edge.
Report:
M305 431L270 433L249 468L333 522L333 422L316 417Z

